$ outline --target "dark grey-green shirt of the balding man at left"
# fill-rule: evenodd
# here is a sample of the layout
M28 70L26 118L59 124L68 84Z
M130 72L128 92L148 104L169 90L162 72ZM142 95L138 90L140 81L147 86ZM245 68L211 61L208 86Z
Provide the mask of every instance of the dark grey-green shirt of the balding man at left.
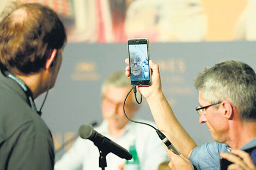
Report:
M52 136L16 81L0 72L0 170L53 169Z

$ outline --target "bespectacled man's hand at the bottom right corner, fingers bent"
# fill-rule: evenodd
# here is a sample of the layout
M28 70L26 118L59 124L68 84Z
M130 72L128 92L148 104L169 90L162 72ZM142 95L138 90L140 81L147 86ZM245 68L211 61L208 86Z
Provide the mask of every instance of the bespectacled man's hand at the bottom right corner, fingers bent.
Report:
M232 154L221 153L221 157L233 162L228 166L228 170L256 170L251 156L243 150L232 150Z

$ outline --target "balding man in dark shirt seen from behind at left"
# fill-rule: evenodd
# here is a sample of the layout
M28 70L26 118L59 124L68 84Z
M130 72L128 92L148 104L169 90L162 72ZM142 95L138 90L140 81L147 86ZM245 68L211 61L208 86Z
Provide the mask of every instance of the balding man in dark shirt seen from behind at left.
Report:
M51 132L34 98L56 81L63 23L44 5L13 4L0 22L0 169L53 169Z

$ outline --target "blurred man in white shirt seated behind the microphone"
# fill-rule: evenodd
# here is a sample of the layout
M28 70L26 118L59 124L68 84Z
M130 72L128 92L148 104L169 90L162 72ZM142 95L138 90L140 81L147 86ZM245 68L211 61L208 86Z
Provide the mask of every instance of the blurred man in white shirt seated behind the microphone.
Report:
M155 170L166 160L167 153L153 128L129 122L124 116L123 102L130 90L130 80L123 71L109 75L101 89L104 121L95 130L126 149L135 142L141 170ZM134 95L129 95L125 104L127 116L133 118L138 109ZM153 124L153 122L148 123ZM92 141L78 138L62 159L57 161L54 169L72 170L80 165L83 166L83 170L99 169L99 155L99 150ZM105 169L109 170L123 168L125 163L124 159L112 153L106 156L106 160Z

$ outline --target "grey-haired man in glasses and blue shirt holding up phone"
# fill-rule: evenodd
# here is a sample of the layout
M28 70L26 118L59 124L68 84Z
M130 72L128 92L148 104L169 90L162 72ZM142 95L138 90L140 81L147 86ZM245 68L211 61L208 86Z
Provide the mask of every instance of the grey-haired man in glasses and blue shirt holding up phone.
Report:
M206 123L216 141L202 146L196 145L174 116L161 90L159 66L150 61L150 67L153 83L139 91L157 127L182 154L168 151L170 169L221 169L221 156L233 162L229 169L256 169L256 75L251 67L224 61L198 74L194 85L199 90L199 123ZM129 66L126 75L130 76Z

